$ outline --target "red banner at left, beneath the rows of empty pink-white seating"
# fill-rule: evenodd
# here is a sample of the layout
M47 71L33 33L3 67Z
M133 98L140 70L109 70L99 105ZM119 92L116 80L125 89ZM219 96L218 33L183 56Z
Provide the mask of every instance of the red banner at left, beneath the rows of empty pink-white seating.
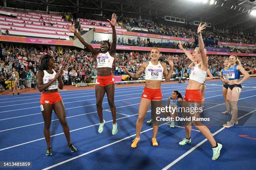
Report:
M74 45L73 41L68 40L53 40L44 38L31 38L31 37L17 37L9 35L0 35L0 41L8 42L23 42L33 44L47 44L47 45Z

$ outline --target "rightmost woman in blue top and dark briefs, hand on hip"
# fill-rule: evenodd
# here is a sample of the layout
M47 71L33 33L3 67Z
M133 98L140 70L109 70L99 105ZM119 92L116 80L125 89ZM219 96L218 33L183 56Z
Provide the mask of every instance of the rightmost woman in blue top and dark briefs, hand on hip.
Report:
M227 100L229 102L229 105L231 106L232 118L229 122L227 122L227 124L223 125L225 128L230 128L234 126L234 124L238 125L237 102L238 102L240 93L242 92L241 83L245 82L250 77L248 72L244 70L240 60L236 55L230 55L229 64L230 66L227 71L227 74L228 74ZM241 81L239 81L241 73L244 75L244 77Z

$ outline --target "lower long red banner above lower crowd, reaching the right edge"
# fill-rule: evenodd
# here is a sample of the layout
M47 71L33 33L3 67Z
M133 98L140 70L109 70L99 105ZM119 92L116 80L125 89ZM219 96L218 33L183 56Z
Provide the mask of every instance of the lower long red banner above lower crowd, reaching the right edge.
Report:
M90 44L94 48L100 48L100 44ZM128 45L117 45L117 50L133 50L133 51L150 51L152 47L137 47L137 46L128 46ZM159 48L161 52L177 52L177 53L184 53L182 50L172 49L172 48ZM190 53L193 53L193 50L187 50ZM239 56L256 56L256 54L249 54L249 53L234 53L234 52L207 52L210 55L239 55Z

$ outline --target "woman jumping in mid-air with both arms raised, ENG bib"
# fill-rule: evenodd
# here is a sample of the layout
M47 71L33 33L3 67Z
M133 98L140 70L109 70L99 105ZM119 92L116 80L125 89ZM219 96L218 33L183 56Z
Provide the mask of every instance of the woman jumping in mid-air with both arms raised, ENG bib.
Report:
M102 116L102 100L105 95L105 92L108 96L108 104L110 106L110 110L113 117L113 129L112 134L115 135L118 133L117 123L116 123L116 112L115 112L115 103L114 103L114 93L115 93L115 84L114 84L114 67L115 65L115 49L116 49L116 32L115 32L115 24L116 24L117 16L115 13L112 15L111 21L108 20L112 27L112 44L108 41L102 41L100 44L100 51L93 48L90 44L84 41L84 39L77 33L73 26L67 25L68 30L74 32L74 35L82 42L82 44L95 55L95 61L97 63L97 80L95 83L95 94L96 94L96 106L97 112L100 118L100 126L98 129L99 133L103 132L103 126L105 124L105 120L103 120Z

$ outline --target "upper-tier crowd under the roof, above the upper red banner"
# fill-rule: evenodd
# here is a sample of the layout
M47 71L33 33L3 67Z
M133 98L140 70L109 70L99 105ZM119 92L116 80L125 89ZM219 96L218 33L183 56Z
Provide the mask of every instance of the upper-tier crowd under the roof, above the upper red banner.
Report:
M153 20L143 20L126 17L119 17L118 19L125 26L147 29L147 31L140 30L140 32L169 35L172 37L191 38L195 39L197 44L196 30L186 29L178 26L157 24ZM205 45L210 47L215 47L216 45L218 45L218 41L243 44L255 44L256 42L254 36L227 33L219 30L205 31L203 35L203 40L205 41Z

